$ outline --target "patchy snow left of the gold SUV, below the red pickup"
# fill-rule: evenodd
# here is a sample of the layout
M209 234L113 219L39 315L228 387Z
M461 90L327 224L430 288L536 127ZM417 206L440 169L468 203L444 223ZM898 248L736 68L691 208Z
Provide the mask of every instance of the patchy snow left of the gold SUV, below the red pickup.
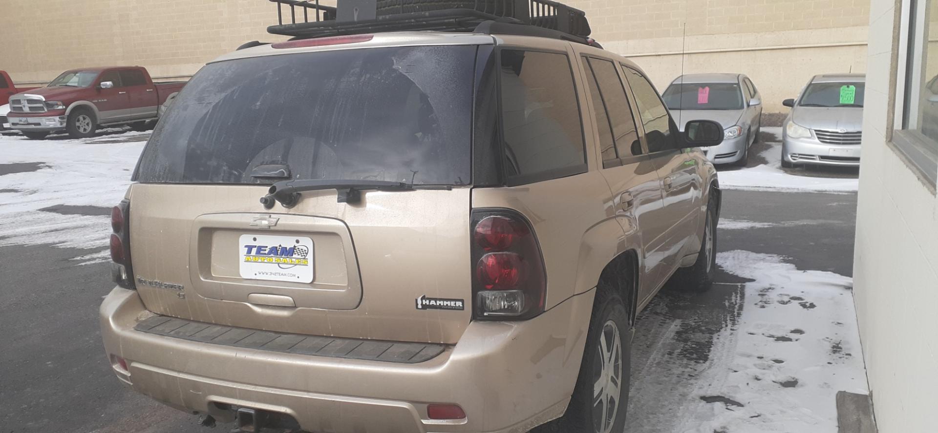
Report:
M0 176L0 246L52 244L100 248L76 258L107 259L110 208L130 185L130 173L149 132L99 135L83 140L29 140L0 136L0 168L38 163L38 170ZM8 166L10 167L10 166ZM96 206L64 212L59 206ZM51 210L40 210L49 209ZM82 215L82 214L98 215ZM63 215L67 214L67 215ZM104 214L104 215L101 215Z

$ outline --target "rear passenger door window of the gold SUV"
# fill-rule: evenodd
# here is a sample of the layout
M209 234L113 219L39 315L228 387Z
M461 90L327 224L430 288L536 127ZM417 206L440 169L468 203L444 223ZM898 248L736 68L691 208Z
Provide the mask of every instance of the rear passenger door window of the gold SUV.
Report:
M608 60L596 58L589 59L589 64L593 67L593 73L596 74L599 91L602 93L602 101L606 105L610 124L613 126L616 152L619 157L642 155L642 144L639 142L635 118L632 116L632 108L628 105L626 89L622 86L622 81L619 80L619 73L615 70L615 64Z

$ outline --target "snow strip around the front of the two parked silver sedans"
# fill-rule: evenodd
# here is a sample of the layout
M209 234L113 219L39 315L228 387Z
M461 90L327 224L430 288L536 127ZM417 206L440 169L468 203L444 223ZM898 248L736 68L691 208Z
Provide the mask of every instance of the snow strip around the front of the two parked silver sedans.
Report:
M814 177L781 170L781 127L763 127L774 134L775 142L759 154L766 163L757 167L719 172L719 186L727 189L785 189L793 191L854 192L857 179Z

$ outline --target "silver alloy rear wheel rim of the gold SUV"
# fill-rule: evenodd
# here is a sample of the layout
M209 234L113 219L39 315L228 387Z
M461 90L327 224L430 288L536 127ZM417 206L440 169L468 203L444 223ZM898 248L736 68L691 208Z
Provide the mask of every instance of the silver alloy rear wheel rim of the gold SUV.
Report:
M622 336L614 321L602 325L597 351L593 363L593 426L596 433L610 433L622 396Z

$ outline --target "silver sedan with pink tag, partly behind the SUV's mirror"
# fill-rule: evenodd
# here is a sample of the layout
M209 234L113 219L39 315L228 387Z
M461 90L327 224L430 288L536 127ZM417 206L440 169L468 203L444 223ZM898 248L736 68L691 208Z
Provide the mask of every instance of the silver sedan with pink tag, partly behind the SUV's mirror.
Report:
M723 142L703 150L714 164L746 165L749 146L762 127L759 90L743 74L685 74L674 79L662 95L681 130L692 119L713 120L723 126Z

